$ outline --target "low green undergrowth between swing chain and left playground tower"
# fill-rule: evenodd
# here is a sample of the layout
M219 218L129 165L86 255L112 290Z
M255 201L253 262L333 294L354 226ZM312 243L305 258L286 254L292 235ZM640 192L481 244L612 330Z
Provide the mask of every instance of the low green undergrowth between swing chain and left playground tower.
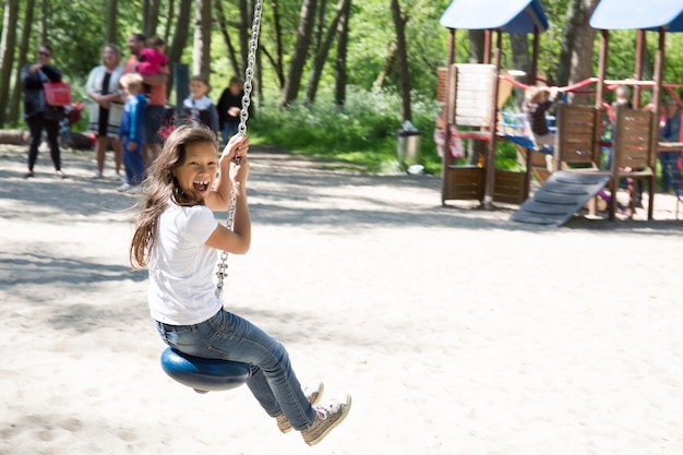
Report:
M314 105L298 101L287 109L279 109L271 99L250 123L254 142L347 161L370 172L402 166L396 158L400 99L392 92L351 86L344 107L335 105L329 93L321 93ZM415 124L424 133L420 153L426 163L438 160L431 140L434 112L434 101L416 96Z

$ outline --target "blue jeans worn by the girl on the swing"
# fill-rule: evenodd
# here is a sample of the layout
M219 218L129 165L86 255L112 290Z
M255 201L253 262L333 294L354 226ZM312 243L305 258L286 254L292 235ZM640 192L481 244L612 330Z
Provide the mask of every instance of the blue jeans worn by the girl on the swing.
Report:
M164 342L190 356L226 359L251 366L247 385L271 417L285 414L296 430L305 430L315 419L281 343L245 319L220 310L193 325L157 322Z

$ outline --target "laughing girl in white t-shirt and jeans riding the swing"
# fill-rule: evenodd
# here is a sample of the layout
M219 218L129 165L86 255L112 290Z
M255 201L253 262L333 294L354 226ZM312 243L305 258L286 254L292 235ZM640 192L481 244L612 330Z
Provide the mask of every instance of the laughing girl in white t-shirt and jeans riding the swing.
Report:
M168 346L191 356L249 363L247 384L264 410L277 419L281 432L293 428L313 445L344 420L350 396L313 407L310 402L320 397L322 384L307 398L285 347L223 309L215 295L217 251L244 254L251 243L248 149L247 137L237 134L216 159L216 136L208 128L177 128L149 169L131 264L149 271L151 313ZM232 190L235 227L229 230L212 211L226 211Z

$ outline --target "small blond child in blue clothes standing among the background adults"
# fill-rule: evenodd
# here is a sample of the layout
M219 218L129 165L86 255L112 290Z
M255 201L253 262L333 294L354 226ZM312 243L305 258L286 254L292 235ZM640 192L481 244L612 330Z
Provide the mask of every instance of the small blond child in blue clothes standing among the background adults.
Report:
M123 145L124 182L118 191L140 192L140 183L145 177L145 165L142 160L144 143L145 107L147 97L140 93L142 76L137 73L123 74L119 83L125 91L125 104L119 125L119 137Z

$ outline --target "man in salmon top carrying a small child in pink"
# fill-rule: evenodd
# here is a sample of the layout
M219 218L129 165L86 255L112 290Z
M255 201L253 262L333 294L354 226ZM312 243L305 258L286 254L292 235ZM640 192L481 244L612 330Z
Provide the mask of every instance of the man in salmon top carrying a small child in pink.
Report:
M152 163L159 156L161 152L161 136L158 134L161 128L161 122L166 115L166 84L168 82L168 65L157 67L157 72L154 74L142 74L140 72L140 64L142 63L143 49L146 48L146 38L142 34L133 34L128 37L128 49L131 52L130 58L123 63L123 74L125 73L139 73L142 76L143 83L149 86L147 96L149 101L145 108L145 131L143 142L143 159L145 168L148 168ZM143 64L143 71L145 71ZM146 68L149 70L149 68Z

